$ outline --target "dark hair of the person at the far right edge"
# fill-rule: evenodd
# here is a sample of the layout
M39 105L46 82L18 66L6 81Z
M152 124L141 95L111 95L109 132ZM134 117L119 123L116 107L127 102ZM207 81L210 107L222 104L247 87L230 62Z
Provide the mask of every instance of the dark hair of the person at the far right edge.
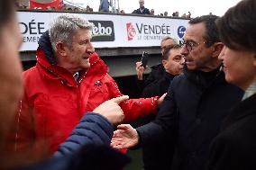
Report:
M255 12L255 0L242 0L217 20L220 38L228 48L256 50Z

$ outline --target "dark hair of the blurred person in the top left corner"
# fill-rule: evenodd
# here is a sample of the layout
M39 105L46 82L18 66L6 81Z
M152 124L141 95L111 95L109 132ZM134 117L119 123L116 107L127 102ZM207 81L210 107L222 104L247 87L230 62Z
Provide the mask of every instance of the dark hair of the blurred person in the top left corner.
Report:
M0 29L13 17L14 7L14 0L0 0Z

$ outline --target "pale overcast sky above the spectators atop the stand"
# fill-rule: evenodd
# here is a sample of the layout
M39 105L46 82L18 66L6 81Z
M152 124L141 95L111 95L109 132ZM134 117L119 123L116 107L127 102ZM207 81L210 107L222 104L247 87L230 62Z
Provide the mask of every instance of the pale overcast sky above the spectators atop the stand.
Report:
M153 8L155 14L167 11L171 15L173 12L178 11L179 15L182 15L189 11L192 17L210 12L221 16L229 7L237 4L239 1L241 0L145 0L145 7ZM85 6L88 4L96 12L100 0L73 0L73 2L78 2ZM123 9L125 13L132 13L134 9L139 8L139 0L119 0L119 4L120 9Z

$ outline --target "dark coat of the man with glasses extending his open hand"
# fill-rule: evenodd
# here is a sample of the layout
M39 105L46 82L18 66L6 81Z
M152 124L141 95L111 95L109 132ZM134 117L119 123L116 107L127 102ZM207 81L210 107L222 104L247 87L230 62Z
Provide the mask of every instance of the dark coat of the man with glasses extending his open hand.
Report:
M184 75L172 80L156 120L136 129L141 144L161 145L169 136L176 144L173 170L202 170L210 143L242 94L238 87L226 83L219 69L205 73L185 66Z

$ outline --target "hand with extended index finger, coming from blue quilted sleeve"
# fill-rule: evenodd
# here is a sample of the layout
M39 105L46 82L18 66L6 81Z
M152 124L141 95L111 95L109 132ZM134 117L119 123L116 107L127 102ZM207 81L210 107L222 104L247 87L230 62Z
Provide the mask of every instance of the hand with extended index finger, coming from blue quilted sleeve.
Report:
M111 100L101 103L93 112L99 113L104 116L112 124L117 124L123 121L124 114L119 103L129 99L128 95L123 95L120 97L113 98Z

